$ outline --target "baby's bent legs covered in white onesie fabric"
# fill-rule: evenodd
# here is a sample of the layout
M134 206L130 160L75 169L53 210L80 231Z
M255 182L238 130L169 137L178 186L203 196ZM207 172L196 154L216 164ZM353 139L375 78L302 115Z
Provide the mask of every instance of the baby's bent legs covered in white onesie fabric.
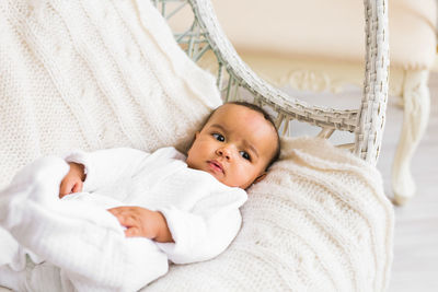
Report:
M43 157L21 171L0 192L0 225L21 246L58 267L58 278L73 289L62 291L136 291L165 273L168 258L152 241L126 237L117 219L96 205L57 198L67 171L60 157ZM26 270L20 285L35 291L36 281L37 287L45 288L42 291L56 291L58 281L36 279L54 279L53 269L46 275L41 267ZM0 284L12 284L9 277L8 270L0 269Z

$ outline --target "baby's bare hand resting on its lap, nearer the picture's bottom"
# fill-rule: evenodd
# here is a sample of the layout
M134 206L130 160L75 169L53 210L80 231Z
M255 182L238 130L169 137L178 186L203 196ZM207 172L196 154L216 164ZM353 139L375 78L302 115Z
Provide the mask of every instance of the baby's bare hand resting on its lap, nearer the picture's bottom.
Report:
M147 237L159 243L173 243L164 215L141 207L116 207L108 210L126 227L127 237Z

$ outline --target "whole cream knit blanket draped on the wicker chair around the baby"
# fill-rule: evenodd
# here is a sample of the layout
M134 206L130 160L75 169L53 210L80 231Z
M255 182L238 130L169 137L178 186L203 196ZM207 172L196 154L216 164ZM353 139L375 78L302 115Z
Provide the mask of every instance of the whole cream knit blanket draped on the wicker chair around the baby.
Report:
M0 188L45 154L187 148L220 104L148 0L0 1ZM383 291L393 213L379 173L328 142L284 141L219 257L146 291Z

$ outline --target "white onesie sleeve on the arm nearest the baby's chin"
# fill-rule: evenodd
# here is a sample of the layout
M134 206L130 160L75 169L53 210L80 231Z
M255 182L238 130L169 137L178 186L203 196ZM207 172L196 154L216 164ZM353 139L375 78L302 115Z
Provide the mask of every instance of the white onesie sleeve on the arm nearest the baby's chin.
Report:
M158 246L171 261L207 260L230 245L242 223L239 208L247 198L243 189L230 189L201 199L191 212L172 207L159 209L166 219L174 243L158 243Z

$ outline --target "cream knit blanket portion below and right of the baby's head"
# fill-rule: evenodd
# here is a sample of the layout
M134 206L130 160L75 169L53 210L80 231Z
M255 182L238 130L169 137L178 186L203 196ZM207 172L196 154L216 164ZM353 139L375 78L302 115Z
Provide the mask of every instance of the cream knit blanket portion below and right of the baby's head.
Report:
M380 173L327 141L284 140L242 215L223 254L142 291L387 290L394 218Z

